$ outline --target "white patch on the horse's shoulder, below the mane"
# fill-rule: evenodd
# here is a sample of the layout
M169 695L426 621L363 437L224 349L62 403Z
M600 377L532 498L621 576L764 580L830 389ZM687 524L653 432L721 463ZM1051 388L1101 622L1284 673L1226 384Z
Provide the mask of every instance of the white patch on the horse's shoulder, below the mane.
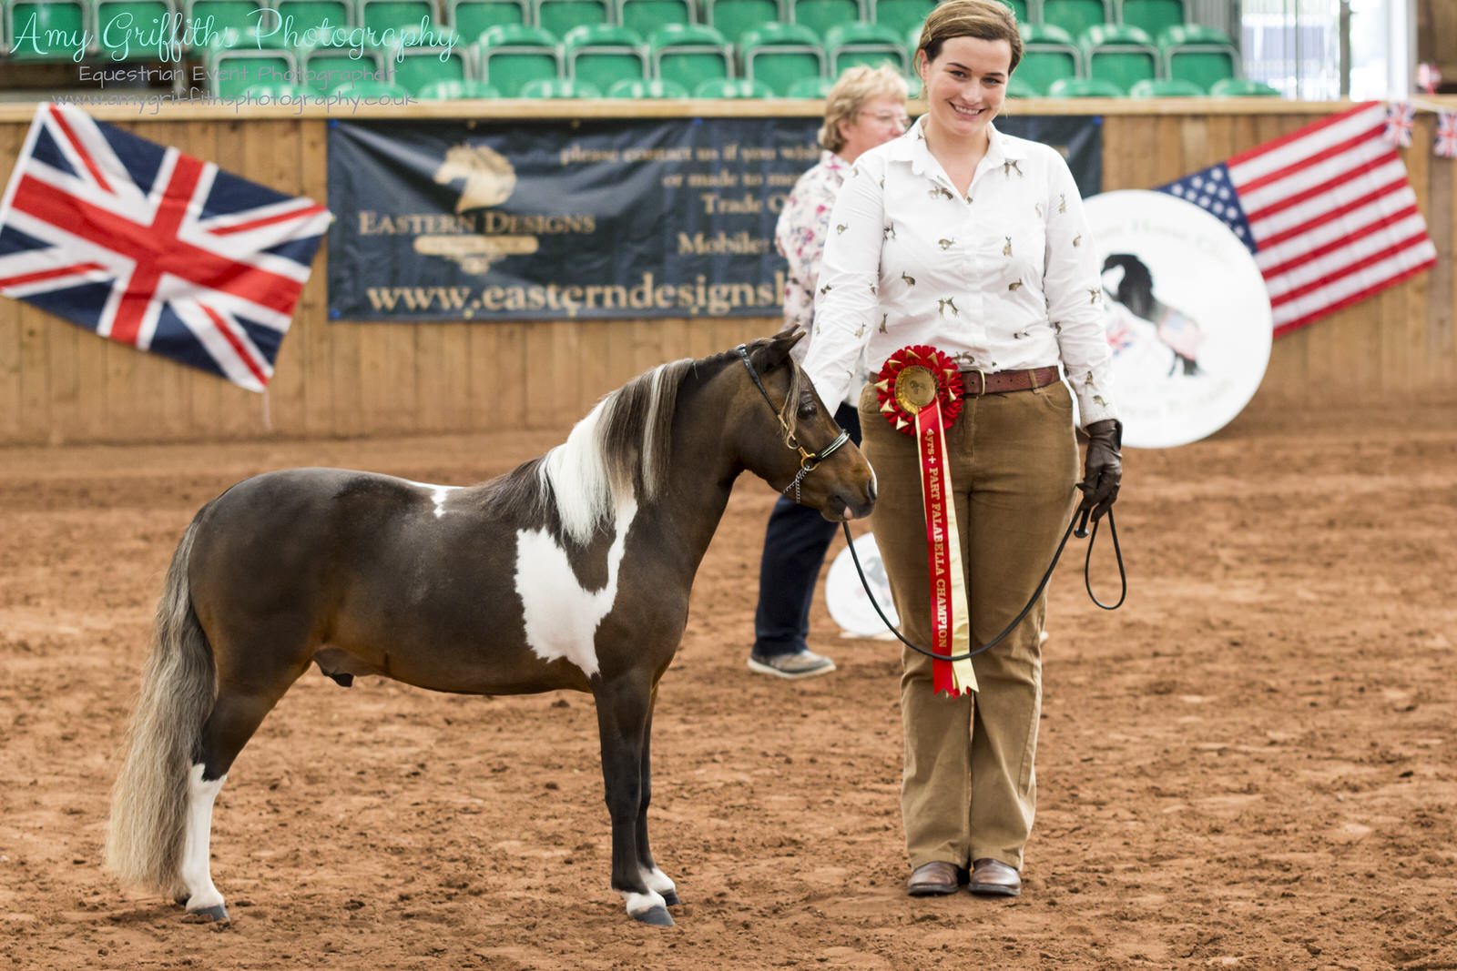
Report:
M567 550L549 531L516 531L516 594L522 598L526 643L536 657L565 658L587 677L597 673L594 635L618 598L618 568L635 515L637 501L631 495L618 502L616 534L608 549L608 582L602 590L583 588Z

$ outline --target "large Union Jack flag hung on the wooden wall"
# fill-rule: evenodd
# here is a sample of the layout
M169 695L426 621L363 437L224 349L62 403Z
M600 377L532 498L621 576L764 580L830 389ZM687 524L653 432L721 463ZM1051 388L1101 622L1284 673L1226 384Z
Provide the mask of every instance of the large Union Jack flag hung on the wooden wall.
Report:
M329 220L41 105L0 202L0 293L262 392Z

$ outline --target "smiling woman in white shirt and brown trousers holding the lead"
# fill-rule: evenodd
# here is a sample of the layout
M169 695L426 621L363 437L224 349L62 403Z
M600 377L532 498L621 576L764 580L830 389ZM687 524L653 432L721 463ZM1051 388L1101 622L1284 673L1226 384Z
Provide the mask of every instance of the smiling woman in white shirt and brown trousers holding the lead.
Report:
M992 125L1021 38L995 0L947 0L916 51L927 114L860 157L830 215L804 361L838 402L861 360L906 345L962 365L963 411L946 434L970 610L970 646L997 636L1037 587L1072 512L1072 395L1090 437L1084 505L1118 495L1120 425L1110 393L1103 288L1077 185L1053 148ZM931 642L927 527L916 441L874 387L860 397L876 469L873 518L909 641ZM900 811L911 895L1021 892L1036 805L1045 603L972 667L975 696L937 694L930 658L903 652ZM975 699L975 703L973 703Z

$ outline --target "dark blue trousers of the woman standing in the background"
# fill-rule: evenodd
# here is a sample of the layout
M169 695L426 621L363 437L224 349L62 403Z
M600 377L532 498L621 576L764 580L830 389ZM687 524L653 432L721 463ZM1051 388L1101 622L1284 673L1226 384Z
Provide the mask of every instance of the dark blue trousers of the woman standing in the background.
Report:
M860 413L841 405L835 421L860 444ZM817 510L779 496L763 531L759 562L759 606L753 611L753 652L759 657L797 654L809 649L810 604L820 566L839 524Z

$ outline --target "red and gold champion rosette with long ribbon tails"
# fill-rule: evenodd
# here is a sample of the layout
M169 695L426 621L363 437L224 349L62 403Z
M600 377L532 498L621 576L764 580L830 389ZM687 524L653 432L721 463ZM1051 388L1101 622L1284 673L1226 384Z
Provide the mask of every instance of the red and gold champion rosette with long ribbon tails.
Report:
M931 579L931 652L966 655L970 617L956 526L956 494L946 454L946 429L962 413L962 371L941 351L911 345L892 354L876 379L880 413L896 431L916 440ZM976 673L970 658L932 661L931 683L934 691L946 691L951 697L975 691Z

